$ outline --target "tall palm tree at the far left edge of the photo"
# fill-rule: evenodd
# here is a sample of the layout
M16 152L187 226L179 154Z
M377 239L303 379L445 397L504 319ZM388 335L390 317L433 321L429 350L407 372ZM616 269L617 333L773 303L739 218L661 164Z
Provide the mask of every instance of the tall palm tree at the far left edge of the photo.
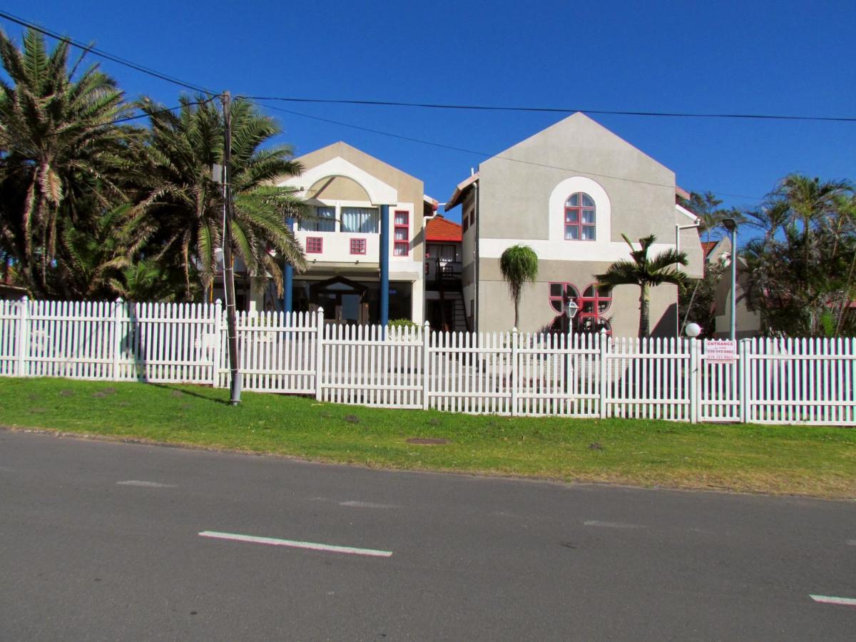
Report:
M4 251L19 277L45 294L62 228L88 215L94 194L107 205L122 197L128 136L116 124L131 113L116 82L98 70L69 66L68 42L45 50L28 30L21 50L0 31L0 183Z

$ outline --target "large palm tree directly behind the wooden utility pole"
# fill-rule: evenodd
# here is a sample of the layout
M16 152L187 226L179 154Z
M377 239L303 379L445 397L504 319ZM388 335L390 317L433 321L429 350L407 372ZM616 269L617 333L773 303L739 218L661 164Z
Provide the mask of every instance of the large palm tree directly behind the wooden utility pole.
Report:
M138 210L152 219L163 247L180 257L186 299L192 298L193 273L204 288L211 287L217 272L214 251L223 242L221 186L211 175L212 165L223 163L223 118L213 100L181 97L177 114L150 101L141 104L151 131L148 194ZM281 129L253 104L235 100L231 117L235 253L251 275L270 274L281 293L282 270L274 254L298 270L306 267L300 243L285 224L286 217L300 218L306 205L293 189L273 183L299 175L302 168L292 160L290 146L259 149Z

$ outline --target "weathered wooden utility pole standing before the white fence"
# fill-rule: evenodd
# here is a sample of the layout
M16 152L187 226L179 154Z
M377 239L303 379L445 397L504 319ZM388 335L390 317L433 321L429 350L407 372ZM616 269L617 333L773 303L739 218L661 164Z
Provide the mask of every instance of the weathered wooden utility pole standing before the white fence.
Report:
M232 257L232 112L231 96L223 92L223 289L226 292L226 332L229 339L229 403L241 402L238 370L238 329L235 320L235 262Z

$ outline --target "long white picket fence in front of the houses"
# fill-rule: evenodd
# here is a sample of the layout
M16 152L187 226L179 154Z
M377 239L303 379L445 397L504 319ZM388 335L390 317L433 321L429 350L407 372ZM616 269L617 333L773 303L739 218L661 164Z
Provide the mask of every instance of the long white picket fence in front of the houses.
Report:
M244 389L461 413L856 425L856 339L443 333L238 315ZM0 375L229 382L223 308L0 300Z

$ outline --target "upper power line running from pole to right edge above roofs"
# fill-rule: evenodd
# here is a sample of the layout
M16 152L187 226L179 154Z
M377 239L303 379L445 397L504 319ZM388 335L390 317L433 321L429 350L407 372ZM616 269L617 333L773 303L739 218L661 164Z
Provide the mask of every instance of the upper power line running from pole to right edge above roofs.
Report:
M581 111L585 114L598 114L607 116L659 116L668 118L739 118L772 121L856 122L856 116L786 116L782 114L704 114L681 111L587 110L582 107L515 107L508 105L486 104L402 103L390 100L340 100L334 98L290 98L282 96L245 96L244 98L249 98L251 100L276 100L284 103L362 104L381 107L421 107L432 110L526 111L550 114L574 114L577 111Z

